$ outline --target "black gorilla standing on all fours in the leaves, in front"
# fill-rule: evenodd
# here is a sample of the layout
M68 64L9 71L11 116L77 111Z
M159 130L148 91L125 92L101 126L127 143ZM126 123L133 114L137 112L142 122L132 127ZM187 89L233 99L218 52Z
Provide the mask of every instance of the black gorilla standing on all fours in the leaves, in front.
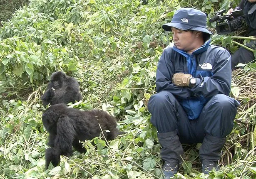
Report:
M103 110L79 110L67 108L65 104L51 105L42 114L42 123L49 132L48 148L45 151L45 167L50 162L57 166L60 155L71 156L72 146L75 150L84 153L86 149L79 141L92 140L102 131L107 140L113 140L122 134L116 127L117 122L111 115ZM100 127L99 127L100 125Z

